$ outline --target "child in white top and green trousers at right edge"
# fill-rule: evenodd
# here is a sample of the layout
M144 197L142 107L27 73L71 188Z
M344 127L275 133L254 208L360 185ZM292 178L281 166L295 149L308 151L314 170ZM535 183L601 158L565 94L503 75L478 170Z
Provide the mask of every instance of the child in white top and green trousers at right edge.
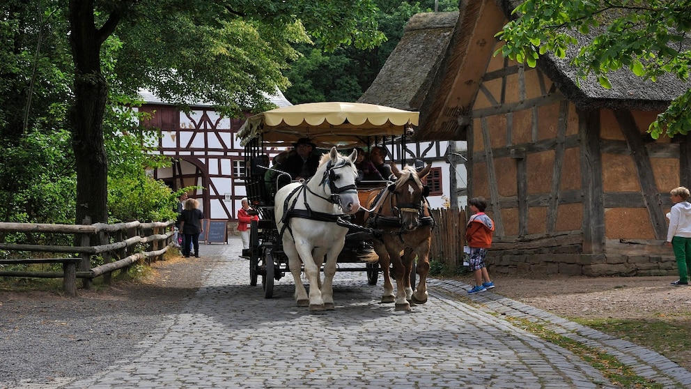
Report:
M688 270L691 268L691 204L689 204L689 190L680 186L669 192L674 206L667 213L669 229L667 242L674 250L676 268L679 270L679 280L672 285L683 286L689 284Z

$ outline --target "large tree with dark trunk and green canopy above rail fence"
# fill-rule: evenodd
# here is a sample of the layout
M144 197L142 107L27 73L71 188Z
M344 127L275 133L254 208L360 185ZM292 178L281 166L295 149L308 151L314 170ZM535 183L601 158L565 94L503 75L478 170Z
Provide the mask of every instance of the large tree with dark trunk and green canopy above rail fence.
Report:
M87 215L107 220L109 87L130 96L148 88L183 108L204 100L227 114L261 109L265 93L287 84L281 70L296 55L290 43L316 38L329 49L372 47L383 38L374 11L371 0L69 0L77 222ZM112 58L117 84L108 84L101 68L109 39L121 45Z

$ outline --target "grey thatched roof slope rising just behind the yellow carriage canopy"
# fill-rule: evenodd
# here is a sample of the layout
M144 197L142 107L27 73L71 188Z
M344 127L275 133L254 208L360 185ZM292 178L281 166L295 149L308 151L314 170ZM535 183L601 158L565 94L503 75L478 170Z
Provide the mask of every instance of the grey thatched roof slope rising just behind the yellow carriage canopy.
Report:
M403 38L357 102L417 111L446 54L458 11L419 13L405 24Z

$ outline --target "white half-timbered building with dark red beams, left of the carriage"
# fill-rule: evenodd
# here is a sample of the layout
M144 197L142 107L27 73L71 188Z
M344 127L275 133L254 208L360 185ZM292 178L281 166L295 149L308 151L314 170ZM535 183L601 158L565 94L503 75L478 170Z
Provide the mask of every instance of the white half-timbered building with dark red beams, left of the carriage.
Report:
M235 220L240 199L245 196L244 147L235 134L244 119L230 119L220 115L209 104L191 104L189 113L163 102L148 91L140 91L144 104L139 108L149 112L147 127L160 129L157 150L168 155L171 167L156 169L154 178L167 183L173 190L189 186L203 189L189 193L199 200L206 218ZM281 93L270 97L278 107L290 105ZM273 158L281 150L267 150Z

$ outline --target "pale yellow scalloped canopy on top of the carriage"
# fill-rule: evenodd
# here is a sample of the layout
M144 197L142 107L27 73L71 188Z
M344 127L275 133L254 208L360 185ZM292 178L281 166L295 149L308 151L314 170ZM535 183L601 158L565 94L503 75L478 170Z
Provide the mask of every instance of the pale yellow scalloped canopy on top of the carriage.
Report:
M247 118L240 143L251 139L289 146L309 137L318 147L366 144L367 137L402 135L418 125L419 112L357 102L309 102L271 109Z

